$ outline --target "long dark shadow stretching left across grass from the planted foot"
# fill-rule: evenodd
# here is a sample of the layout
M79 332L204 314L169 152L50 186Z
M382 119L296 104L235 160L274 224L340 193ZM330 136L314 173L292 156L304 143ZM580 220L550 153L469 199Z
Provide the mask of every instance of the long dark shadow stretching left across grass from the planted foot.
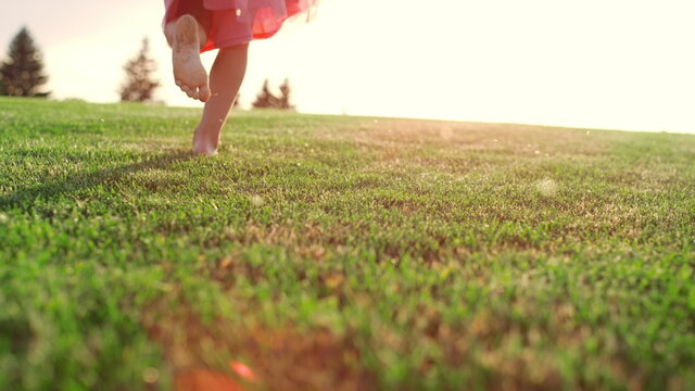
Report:
M113 184L130 173L165 168L174 163L193 159L191 152L174 152L119 167L98 169L89 173L74 173L65 178L48 181L0 195L0 211L16 206L31 206L37 199L50 200L62 194L91 188L102 184Z

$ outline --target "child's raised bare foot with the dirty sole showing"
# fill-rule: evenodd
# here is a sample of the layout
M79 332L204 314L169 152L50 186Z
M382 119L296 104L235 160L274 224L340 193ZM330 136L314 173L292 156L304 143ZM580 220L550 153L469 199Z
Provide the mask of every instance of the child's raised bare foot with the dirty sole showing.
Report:
M173 39L174 79L186 94L201 102L210 99L207 73L200 62L198 22L191 15L176 21Z

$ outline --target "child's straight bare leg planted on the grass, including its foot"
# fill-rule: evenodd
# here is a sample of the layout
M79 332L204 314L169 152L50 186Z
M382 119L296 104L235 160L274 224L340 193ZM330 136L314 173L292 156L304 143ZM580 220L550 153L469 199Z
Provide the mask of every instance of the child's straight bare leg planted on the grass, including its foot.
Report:
M229 110L237 99L239 87L247 73L249 45L238 45L219 50L210 72L212 96L205 103L203 117L193 136L193 152L215 154L219 134Z

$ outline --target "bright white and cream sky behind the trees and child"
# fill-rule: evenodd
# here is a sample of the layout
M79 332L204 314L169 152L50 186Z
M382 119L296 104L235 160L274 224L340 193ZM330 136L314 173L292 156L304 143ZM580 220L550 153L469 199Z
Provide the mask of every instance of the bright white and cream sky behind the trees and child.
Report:
M148 36L156 98L202 106L173 83L163 13L0 0L0 51L27 25L53 98L115 102ZM693 0L326 0L314 23L252 43L241 101L289 77L308 113L695 133L693 15Z

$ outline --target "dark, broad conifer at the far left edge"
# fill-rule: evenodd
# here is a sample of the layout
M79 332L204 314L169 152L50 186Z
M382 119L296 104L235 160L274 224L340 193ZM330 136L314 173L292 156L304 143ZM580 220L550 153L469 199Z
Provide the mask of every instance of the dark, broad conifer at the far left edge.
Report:
M26 27L10 42L9 60L0 65L0 94L13 97L41 97L50 92L40 91L48 81L43 74L43 61Z

